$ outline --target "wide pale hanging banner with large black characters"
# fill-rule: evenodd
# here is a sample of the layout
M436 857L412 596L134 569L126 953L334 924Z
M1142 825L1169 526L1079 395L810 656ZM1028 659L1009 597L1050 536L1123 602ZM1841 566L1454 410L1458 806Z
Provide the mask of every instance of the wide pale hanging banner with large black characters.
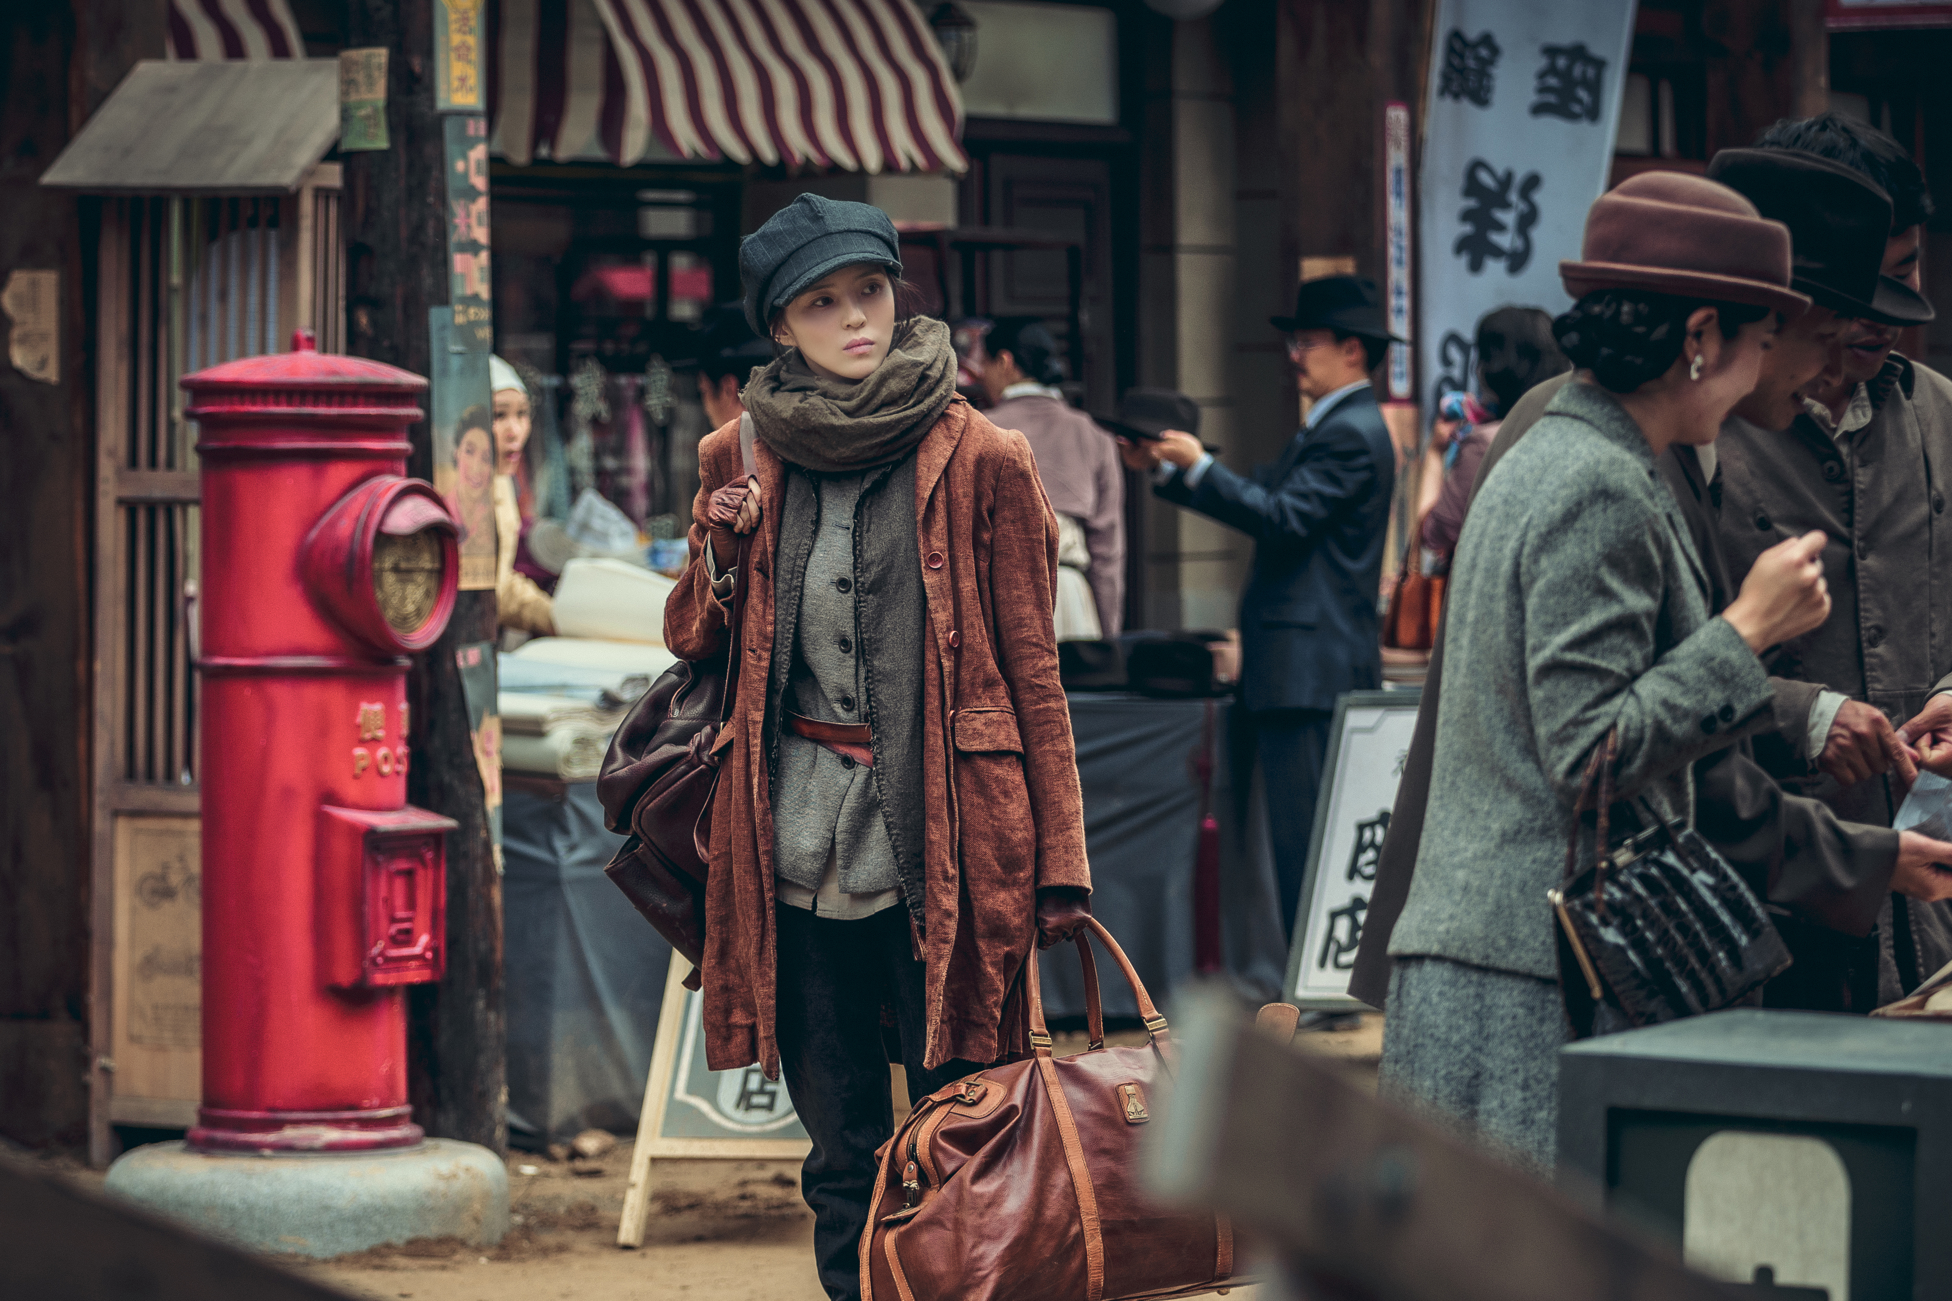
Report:
M1632 39L1632 0L1439 0L1417 223L1427 408L1476 387L1480 316L1569 307L1560 262L1606 189Z

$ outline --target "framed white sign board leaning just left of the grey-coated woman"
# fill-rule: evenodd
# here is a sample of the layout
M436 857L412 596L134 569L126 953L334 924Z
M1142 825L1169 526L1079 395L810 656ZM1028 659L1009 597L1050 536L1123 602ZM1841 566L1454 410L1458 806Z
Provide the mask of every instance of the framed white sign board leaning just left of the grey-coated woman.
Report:
M1308 842L1302 906L1288 951L1288 1002L1320 1012L1361 1012L1349 971L1362 944L1362 914L1376 887L1382 838L1409 758L1423 692L1347 692L1335 699L1316 830Z

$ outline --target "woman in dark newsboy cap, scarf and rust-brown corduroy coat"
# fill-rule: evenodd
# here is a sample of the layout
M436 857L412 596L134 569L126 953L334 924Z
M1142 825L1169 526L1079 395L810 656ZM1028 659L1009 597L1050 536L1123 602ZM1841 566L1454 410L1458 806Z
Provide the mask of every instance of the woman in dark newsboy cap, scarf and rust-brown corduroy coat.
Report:
M664 615L742 672L705 899L707 1063L787 1076L832 1297L859 1295L894 1133L882 1008L921 1098L1007 1053L1031 944L1089 916L1058 684L1058 525L1021 434L956 397L949 326L902 305L888 217L802 193L740 246L779 346L699 443L691 563ZM740 559L742 539L750 551Z

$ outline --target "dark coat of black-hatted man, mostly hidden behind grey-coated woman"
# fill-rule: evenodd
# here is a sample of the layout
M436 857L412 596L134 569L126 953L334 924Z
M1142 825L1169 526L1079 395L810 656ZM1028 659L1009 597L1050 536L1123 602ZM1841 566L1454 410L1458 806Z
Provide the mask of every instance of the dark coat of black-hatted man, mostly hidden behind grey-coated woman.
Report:
M1478 471L1480 484L1499 457L1532 428L1567 379L1546 381L1513 406ZM1718 502L1700 461L1692 447L1675 447L1659 459L1659 465L1708 574L1710 609L1724 609L1741 584L1729 574L1720 539ZM1778 731L1802 736L1808 731L1810 707L1815 703L1815 688L1780 678L1772 678L1770 684L1776 690ZM1443 639L1439 637L1349 979L1349 992L1376 1008L1388 996L1390 932L1409 895L1423 840L1423 807L1431 789L1441 690ZM1882 826L1843 822L1819 801L1784 793L1755 762L1747 742L1718 750L1694 764L1694 820L1702 838L1720 850L1759 895L1798 924L1808 922L1837 936L1864 936L1878 920L1891 869L1897 865L1897 834ZM1815 965L1811 959L1829 965L1831 953L1811 951L1823 944L1821 938L1810 936L1810 944L1800 944L1794 930L1786 930L1786 938L1806 967L1798 973L1800 979L1815 977L1810 971Z

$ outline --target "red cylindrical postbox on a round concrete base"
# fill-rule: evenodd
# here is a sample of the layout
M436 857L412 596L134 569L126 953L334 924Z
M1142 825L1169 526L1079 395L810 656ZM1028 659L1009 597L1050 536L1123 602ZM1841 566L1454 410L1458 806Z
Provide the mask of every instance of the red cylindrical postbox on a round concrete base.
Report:
M455 522L406 479L427 381L314 352L183 377L203 461L201 1151L422 1139L406 990L445 836L408 807L406 654L455 608Z

